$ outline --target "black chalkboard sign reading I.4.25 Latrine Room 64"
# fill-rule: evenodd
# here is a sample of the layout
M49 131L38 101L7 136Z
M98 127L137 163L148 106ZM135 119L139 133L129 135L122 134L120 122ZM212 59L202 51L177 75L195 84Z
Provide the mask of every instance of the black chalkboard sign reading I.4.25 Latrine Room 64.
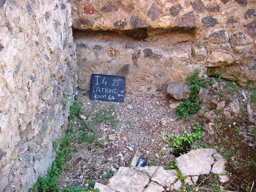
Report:
M92 74L90 99L102 101L124 101L125 77Z

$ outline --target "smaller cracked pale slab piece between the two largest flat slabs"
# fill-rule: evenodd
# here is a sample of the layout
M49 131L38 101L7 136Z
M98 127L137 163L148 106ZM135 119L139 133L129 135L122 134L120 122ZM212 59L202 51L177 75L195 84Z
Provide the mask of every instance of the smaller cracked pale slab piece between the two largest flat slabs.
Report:
M164 187L172 185L177 179L175 170L165 170L163 167L158 167L151 178L152 181Z

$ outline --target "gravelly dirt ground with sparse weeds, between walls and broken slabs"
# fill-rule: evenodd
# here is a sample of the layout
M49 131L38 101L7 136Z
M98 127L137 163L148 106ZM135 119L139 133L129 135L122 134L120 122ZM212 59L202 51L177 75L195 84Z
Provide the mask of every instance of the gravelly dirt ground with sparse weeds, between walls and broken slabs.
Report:
M230 119L215 110L217 119L205 120L193 115L190 120L178 120L176 110L170 109L168 105L170 100L168 95L126 94L124 102L119 103L90 100L88 92L80 90L78 100L82 100L80 104L83 109L82 118L93 122L103 109L110 112L118 122L116 126L109 120L93 123L94 131L90 134L94 134L95 140L99 142L88 145L74 141L78 152L73 153L68 161L59 179L60 187L87 186L87 182L91 180L106 184L119 166L128 166L136 150L148 157L150 165L165 165L170 159L175 158L170 153L171 147L164 141L166 136L192 132L197 122L202 125L212 122L215 124L214 133L209 135L206 131L206 137L197 147L215 148L227 158L230 182L225 186L226 190L249 192L253 181L256 180L256 136L252 134L254 125L248 122L247 101L244 101L240 94L244 88L235 91L232 89L230 92L230 87L223 85L222 82L219 82L219 87L222 88L221 94L218 92L219 89L209 88L211 93L219 97L218 101L231 98L239 100L241 110ZM245 90L245 93L248 98L253 94L249 90ZM256 111L254 101L248 102L251 102L252 111ZM109 110L109 105L115 106L114 112ZM73 119L70 123L74 125L75 131L81 130L79 121ZM238 132L237 127L241 128ZM82 131L89 129L88 126L83 127ZM256 187L256 183L254 185Z

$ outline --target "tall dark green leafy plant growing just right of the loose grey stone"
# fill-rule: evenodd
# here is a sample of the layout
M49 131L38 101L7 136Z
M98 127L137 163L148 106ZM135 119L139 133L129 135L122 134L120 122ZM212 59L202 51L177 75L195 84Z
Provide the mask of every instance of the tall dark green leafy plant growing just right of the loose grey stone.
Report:
M186 79L192 94L189 99L183 100L176 108L178 119L182 119L184 116L186 119L190 119L191 114L197 113L202 108L202 100L198 99L198 94L200 87L203 86L203 81L199 79L199 73L199 70L195 70L194 75Z

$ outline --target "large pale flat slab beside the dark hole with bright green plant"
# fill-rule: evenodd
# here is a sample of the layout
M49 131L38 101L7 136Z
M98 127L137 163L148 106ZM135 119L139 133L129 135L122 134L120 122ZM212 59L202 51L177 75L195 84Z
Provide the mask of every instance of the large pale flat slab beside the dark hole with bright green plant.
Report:
M215 149L196 149L177 157L175 161L183 175L204 175L211 172L215 153L217 153Z

